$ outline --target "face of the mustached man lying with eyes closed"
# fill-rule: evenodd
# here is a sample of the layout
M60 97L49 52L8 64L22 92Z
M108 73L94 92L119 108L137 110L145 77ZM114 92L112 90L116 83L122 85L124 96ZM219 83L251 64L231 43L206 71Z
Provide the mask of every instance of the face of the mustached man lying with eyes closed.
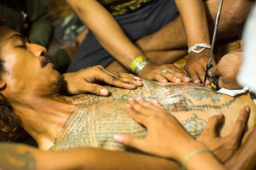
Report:
M58 92L60 74L46 59L46 52L44 47L30 44L23 35L0 27L0 59L5 69L0 85L5 83L2 93L7 99L19 94L51 95Z

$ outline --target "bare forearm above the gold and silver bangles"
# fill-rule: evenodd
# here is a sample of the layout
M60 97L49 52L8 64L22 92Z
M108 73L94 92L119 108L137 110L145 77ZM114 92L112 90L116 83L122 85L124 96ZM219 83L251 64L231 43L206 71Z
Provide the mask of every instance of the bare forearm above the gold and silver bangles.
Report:
M126 68L130 69L131 62L143 54L125 36L113 16L96 0L67 0L67 2L92 31L102 47Z

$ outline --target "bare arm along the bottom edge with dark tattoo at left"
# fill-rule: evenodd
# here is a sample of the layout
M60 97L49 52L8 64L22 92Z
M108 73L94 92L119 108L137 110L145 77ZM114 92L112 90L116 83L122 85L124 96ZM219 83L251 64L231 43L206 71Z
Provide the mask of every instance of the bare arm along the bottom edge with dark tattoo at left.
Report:
M169 170L172 161L100 149L45 152L26 145L0 144L0 170Z

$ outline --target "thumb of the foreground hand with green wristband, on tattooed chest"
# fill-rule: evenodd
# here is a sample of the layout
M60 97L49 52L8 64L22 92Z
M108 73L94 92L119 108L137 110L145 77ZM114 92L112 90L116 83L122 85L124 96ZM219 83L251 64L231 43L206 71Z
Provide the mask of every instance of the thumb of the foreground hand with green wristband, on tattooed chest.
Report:
M114 141L143 151L146 151L148 149L146 147L145 139L137 138L130 135L114 135Z

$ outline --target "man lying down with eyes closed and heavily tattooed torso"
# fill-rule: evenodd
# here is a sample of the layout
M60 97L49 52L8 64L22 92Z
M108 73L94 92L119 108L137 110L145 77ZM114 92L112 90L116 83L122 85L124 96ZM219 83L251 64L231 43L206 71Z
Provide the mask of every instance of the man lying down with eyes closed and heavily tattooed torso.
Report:
M216 112L225 116L221 135L226 135L245 105L251 107L248 127L254 125L256 106L249 94L233 98L193 83L143 81L143 87L135 90L106 86L111 93L108 97L62 96L60 74L51 64L41 67L44 48L29 44L9 28L1 28L0 42L1 107L9 111L14 108L6 115L7 120L17 114L20 124L41 150L75 147L125 150L125 146L113 141L115 134L147 135L146 129L125 111L127 100L137 96L160 102L194 138L200 136L208 118ZM10 104L3 102L4 99Z

